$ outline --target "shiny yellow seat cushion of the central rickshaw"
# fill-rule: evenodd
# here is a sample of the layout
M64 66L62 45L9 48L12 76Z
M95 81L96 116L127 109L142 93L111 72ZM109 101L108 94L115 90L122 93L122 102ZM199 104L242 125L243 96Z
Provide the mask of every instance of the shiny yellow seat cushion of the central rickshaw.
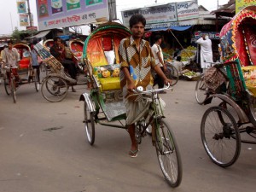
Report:
M120 90L120 80L119 77L112 77L112 78L101 78L99 79L102 85L103 90Z

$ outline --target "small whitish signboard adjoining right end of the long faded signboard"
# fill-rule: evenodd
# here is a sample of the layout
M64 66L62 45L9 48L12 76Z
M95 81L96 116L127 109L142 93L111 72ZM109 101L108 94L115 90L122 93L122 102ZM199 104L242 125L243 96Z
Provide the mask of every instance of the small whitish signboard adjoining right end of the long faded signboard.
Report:
M177 20L190 20L199 17L198 4L195 1L176 3Z

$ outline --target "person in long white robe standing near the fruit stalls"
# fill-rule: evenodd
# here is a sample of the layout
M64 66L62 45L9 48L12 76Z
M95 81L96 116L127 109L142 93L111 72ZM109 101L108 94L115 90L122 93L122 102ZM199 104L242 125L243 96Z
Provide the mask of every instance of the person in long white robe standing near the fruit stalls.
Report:
M210 63L213 62L212 41L207 35L203 34L202 37L196 41L196 43L201 45L201 68L203 70L203 73L205 73L205 70L210 66Z

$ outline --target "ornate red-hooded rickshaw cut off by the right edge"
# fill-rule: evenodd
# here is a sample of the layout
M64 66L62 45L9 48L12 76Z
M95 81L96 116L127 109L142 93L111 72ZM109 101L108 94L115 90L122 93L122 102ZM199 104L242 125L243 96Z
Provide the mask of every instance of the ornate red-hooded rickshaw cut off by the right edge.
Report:
M236 162L241 143L256 144L255 25L256 6L249 6L222 28L220 45L224 64L216 65L215 72L225 66L222 74L227 81L224 87L215 81L222 88L213 90L203 102L208 104L212 98L221 100L218 107L208 108L204 113L201 140L210 159L222 167ZM211 85L213 80L206 79L205 83ZM241 137L241 133L247 133L251 139Z

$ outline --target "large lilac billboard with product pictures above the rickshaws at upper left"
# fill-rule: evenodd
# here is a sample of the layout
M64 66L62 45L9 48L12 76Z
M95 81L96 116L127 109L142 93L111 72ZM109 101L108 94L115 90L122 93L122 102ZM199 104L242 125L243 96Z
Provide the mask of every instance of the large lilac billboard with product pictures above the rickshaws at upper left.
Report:
M37 0L38 30L108 20L108 0Z

